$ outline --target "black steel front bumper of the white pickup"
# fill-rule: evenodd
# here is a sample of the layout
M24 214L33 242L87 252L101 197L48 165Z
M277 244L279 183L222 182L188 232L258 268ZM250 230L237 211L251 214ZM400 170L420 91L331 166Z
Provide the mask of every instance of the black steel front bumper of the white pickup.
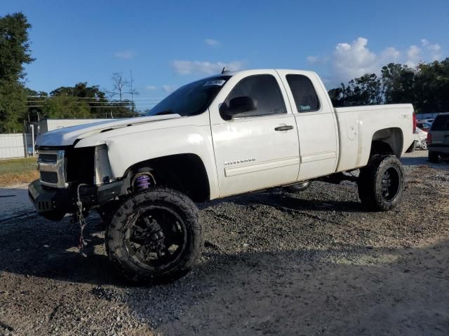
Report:
M122 181L107 183L103 186L81 186L79 196L83 207L89 208L123 195L122 189ZM38 214L47 218L49 216L46 215L52 213L62 218L65 214L76 211L78 199L76 188L50 188L42 186L41 181L35 180L28 186L28 196Z

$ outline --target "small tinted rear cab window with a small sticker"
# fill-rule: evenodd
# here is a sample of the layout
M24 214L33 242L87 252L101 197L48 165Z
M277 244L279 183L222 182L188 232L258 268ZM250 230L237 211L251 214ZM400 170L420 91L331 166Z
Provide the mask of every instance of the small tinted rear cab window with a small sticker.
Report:
M298 112L313 112L320 109L314 85L307 76L287 75L286 78Z

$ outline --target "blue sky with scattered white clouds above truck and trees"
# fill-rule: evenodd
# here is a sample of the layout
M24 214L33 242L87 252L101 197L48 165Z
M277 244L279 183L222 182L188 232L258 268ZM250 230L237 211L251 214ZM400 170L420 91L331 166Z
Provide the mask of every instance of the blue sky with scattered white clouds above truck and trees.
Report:
M312 69L328 87L449 56L449 1L22 1L36 61L27 85L87 81L110 89L132 69L143 109L152 98L230 69Z

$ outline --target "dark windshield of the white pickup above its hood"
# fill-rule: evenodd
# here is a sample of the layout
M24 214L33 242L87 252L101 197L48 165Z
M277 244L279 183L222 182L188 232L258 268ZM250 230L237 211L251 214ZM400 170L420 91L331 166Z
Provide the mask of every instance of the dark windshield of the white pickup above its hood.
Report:
M184 85L149 110L146 116L195 116L203 113L229 78L231 76L209 77Z

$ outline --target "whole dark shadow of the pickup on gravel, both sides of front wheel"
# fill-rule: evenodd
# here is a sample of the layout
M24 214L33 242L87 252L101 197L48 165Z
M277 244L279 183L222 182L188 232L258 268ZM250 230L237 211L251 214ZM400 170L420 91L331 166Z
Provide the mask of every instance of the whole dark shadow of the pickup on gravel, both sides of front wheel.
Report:
M316 188L314 188L311 188L311 193L315 195ZM300 196L304 198L299 200L297 197L298 195L274 190L231 197L217 202L231 202L243 206L262 204L304 213L361 211L361 204L355 201L324 202L308 200L307 195ZM199 208L207 209L217 202L199 204ZM51 222L36 215L28 219L18 218L1 223L0 271L75 283L129 286L130 283L123 281L117 274L105 253L104 232L100 218L95 214L88 218L88 225L84 230L88 244L83 248L83 253L77 247L79 225L70 223L70 219L65 217L60 222Z

